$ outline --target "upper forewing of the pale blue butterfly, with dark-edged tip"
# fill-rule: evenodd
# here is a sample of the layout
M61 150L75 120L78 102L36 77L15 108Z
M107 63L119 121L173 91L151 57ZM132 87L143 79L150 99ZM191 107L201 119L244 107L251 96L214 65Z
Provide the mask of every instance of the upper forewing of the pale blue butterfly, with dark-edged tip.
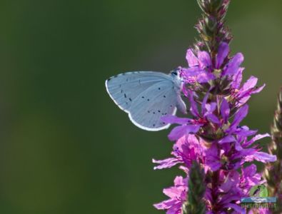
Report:
M106 81L106 90L116 105L129 113L133 101L150 86L170 77L161 72L134 71L121 73Z

